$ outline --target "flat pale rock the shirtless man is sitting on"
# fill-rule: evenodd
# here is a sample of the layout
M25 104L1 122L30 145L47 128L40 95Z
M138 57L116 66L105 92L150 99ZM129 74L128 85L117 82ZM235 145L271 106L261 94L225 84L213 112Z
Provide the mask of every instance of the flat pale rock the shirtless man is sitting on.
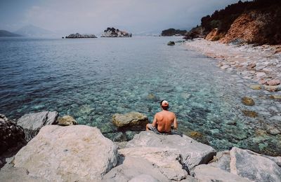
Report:
M141 132L136 134L126 147L156 147L176 149L181 155L181 165L189 171L200 164L209 162L215 150L211 146L201 144L190 137L183 135L183 137L173 135L160 135L154 132Z

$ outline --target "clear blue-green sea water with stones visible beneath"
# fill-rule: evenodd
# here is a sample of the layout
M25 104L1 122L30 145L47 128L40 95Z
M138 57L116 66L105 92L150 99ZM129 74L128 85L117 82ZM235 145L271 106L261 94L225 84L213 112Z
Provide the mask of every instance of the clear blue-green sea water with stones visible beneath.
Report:
M0 39L0 113L58 111L97 126L114 141L131 139L112 125L114 113L139 111L150 121L167 99L180 132L222 150L232 146L281 155L280 101L250 90L250 81L165 37ZM255 106L244 106L242 97ZM256 111L249 118L242 110Z

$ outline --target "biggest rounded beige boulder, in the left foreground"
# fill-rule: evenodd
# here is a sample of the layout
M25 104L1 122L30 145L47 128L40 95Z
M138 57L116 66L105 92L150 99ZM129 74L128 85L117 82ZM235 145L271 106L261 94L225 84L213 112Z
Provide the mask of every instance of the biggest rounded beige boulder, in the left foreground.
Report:
M117 146L96 127L42 127L13 160L14 167L47 181L99 181L117 164Z

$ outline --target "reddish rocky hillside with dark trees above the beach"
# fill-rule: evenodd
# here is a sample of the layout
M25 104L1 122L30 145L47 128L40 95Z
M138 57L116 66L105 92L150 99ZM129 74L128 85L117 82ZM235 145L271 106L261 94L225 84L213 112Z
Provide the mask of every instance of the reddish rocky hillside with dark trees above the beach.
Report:
M239 1L203 17L201 26L210 41L281 44L281 1Z

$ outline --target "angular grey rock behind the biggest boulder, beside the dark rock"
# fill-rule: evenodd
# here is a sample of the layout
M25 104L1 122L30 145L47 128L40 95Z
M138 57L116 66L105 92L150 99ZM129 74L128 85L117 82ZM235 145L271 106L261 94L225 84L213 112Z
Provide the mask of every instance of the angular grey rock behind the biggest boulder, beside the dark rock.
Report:
M25 139L30 141L37 135L41 127L57 123L58 112L44 111L40 113L29 113L18 119L18 125L25 130Z

